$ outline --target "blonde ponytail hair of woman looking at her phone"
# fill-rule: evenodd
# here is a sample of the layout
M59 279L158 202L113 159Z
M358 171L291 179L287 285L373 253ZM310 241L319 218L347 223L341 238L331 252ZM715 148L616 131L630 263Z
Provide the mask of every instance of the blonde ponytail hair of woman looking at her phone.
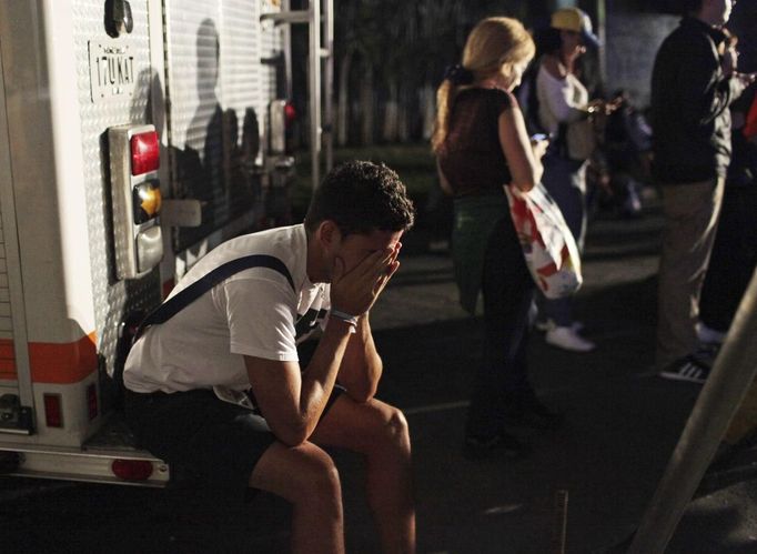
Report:
M445 79L436 91L436 121L431 147L438 152L450 132L450 113L455 97L502 71L534 57L534 40L517 19L486 18L468 34L463 50L463 68L473 74L473 83L454 84Z

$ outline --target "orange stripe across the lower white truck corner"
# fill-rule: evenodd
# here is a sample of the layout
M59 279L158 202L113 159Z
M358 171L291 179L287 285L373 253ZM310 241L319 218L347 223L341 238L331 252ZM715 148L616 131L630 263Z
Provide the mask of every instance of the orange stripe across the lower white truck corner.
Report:
M34 383L78 383L98 369L95 334L68 343L30 342L29 365ZM6 356L10 353L11 357ZM13 341L0 339L0 379L17 379Z

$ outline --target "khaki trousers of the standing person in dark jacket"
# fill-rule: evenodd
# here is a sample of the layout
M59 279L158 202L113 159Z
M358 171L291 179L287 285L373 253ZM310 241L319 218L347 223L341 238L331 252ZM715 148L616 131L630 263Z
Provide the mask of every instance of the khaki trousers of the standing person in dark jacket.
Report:
M715 242L724 178L663 185L665 229L657 289L657 369L697 347L699 294Z

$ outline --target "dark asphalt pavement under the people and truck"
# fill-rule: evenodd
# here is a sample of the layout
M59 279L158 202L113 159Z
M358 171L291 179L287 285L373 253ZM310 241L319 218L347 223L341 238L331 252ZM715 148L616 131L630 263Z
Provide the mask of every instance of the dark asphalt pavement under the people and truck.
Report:
M534 331L533 382L566 421L554 431L516 430L533 445L517 461L462 455L482 322L458 306L447 253L428 252L423 231L406 238L372 323L385 364L378 396L411 425L420 553L624 551L700 390L653 371L660 225L654 209L642 219L593 221L576 312L598 347L568 353ZM347 551L377 553L361 460L333 455ZM710 472L667 552L757 552L756 467L746 449ZM290 515L266 494L233 513L190 513L165 490L0 479L3 554L286 552Z

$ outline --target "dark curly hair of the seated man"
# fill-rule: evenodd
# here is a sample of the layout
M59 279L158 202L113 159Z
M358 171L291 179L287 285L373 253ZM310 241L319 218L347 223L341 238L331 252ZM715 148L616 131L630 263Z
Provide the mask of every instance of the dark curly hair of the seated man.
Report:
M312 233L325 220L335 222L345 236L407 231L415 209L394 171L383 163L354 160L334 168L313 194L305 229Z

